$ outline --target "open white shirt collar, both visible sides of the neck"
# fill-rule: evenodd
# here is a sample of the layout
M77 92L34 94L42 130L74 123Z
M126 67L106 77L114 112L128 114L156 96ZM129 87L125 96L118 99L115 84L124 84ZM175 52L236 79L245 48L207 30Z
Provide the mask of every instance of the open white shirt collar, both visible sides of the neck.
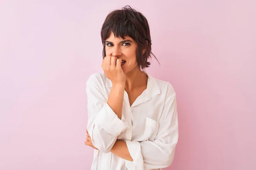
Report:
M146 71L144 71L147 75L148 75L148 84L147 84L147 88L146 88L146 99L145 100L149 100L151 99L151 97L160 94L160 88L157 84L157 80L152 77L151 75L149 75ZM108 79L106 77L106 86L111 88L112 87L112 82L110 79Z

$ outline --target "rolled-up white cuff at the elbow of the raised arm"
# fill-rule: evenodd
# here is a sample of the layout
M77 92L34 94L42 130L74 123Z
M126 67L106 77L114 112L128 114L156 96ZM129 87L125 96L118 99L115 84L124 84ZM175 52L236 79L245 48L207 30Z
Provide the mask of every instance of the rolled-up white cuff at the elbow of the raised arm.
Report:
M95 122L113 136L119 136L120 133L129 127L125 117L122 115L121 119L119 119L107 102L105 102L102 110L97 114Z

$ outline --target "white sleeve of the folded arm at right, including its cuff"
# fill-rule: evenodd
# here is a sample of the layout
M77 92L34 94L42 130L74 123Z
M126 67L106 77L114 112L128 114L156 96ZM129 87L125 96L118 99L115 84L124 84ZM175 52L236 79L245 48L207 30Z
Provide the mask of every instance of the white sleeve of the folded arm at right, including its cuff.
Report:
M172 164L178 141L176 94L173 89L166 95L154 141L126 141L134 161L125 160L128 170L152 170Z

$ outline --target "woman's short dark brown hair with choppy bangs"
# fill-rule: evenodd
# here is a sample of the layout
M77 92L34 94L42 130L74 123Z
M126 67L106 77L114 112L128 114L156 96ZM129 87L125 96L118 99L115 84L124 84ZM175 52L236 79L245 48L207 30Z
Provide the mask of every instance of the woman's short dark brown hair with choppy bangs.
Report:
M125 6L121 10L115 10L108 14L101 28L103 58L106 56L105 41L111 32L115 37L124 39L125 36L129 36L134 39L138 44L136 58L140 71L149 67L151 63L148 62L148 58L151 58L151 54L153 56L154 54L151 52L148 21L143 14L131 8L131 6ZM142 54L143 49L145 49L144 54Z

